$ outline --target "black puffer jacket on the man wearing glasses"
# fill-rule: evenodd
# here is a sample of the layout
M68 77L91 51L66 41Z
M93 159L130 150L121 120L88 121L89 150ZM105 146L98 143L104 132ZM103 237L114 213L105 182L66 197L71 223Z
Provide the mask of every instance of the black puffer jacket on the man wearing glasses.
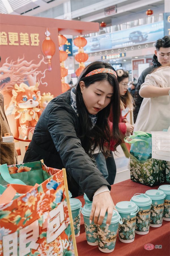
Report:
M134 120L134 123L136 122L136 119L137 119L137 115L139 113L139 109L141 107L141 104L142 104L142 101L143 101L143 98L139 95L139 90L141 88L141 85L145 82L145 77L146 75L150 74L151 71L154 69L154 68L157 68L157 67L160 67L161 64L158 62L158 59L156 57L156 55L154 54L153 58L152 58L152 63L153 63L153 66L152 67L147 67L140 75L139 79L138 79L138 82L137 82L137 85L136 85L136 89L135 89L135 97L134 97L134 101L135 101L135 107L133 109L133 120Z

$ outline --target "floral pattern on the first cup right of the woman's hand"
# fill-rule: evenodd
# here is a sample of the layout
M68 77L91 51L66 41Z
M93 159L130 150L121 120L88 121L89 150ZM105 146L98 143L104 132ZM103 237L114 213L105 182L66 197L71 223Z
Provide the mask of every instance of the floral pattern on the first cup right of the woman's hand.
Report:
M123 224L119 224L118 231L119 237L123 240L131 240L135 238L135 223L136 216L131 218L130 215L127 218L122 218Z

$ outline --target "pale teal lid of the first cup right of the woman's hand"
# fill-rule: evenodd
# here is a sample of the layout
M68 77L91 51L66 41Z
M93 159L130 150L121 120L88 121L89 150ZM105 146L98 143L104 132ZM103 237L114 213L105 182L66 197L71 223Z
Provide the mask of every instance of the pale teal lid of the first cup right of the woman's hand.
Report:
M138 209L137 205L134 202L130 201L118 202L115 207L120 213L131 213L135 212Z

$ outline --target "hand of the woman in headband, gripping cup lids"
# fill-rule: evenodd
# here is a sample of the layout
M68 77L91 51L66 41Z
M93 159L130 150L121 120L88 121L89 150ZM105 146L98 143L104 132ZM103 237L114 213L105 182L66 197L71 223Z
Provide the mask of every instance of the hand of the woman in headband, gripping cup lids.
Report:
M94 218L94 223L101 225L105 217L105 213L107 212L108 215L106 224L110 225L113 209L116 210L109 191L105 191L94 196L90 221L92 221Z

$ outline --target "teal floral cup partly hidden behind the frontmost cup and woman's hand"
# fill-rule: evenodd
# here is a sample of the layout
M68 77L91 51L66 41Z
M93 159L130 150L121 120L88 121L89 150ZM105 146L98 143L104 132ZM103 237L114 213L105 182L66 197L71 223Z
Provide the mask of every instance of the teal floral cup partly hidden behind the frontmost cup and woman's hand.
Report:
M81 208L81 213L84 218L84 226L86 231L86 240L90 245L98 245L98 236L97 236L97 225L94 224L94 221L90 224L90 213L92 210L92 204L85 204Z

